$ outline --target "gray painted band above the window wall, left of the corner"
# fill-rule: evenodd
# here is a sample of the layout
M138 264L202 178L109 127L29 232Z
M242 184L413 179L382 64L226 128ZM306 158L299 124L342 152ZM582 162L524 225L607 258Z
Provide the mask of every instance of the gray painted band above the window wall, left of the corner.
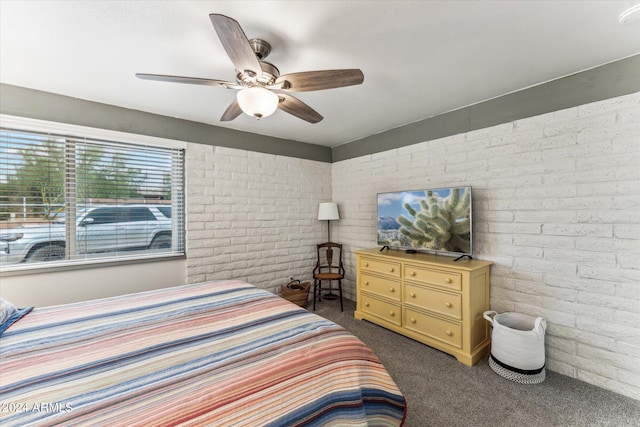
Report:
M331 162L330 147L241 132L7 84L0 84L0 113Z

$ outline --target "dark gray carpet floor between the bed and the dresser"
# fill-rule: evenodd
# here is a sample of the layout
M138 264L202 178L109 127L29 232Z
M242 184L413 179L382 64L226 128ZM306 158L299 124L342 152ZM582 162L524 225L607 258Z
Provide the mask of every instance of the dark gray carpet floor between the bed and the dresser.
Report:
M312 303L307 307L313 311ZM353 317L355 304L318 303L316 314L338 323L380 358L407 400L406 427L640 426L640 401L547 370L522 385L473 367L417 341Z

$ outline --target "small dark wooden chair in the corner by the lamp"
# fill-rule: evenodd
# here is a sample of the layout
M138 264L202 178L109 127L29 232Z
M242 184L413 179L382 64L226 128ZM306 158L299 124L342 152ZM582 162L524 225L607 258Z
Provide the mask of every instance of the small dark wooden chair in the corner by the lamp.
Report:
M313 310L316 309L316 298L322 301L322 292L329 291L325 299L334 299L331 293L331 284L335 280L338 282L340 293L340 311L344 311L342 305L342 279L344 279L344 266L342 265L342 245L339 243L326 242L317 245L318 261L313 269ZM329 287L323 288L322 282L328 281Z

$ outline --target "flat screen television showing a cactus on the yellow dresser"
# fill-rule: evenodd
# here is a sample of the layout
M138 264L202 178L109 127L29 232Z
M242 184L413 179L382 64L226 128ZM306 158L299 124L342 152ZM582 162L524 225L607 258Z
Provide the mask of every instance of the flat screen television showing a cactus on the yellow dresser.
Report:
M471 187L378 194L378 245L471 258Z

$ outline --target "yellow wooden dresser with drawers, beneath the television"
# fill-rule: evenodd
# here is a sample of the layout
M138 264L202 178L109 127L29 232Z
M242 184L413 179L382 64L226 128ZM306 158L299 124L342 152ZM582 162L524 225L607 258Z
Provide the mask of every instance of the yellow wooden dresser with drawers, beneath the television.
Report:
M471 366L489 350L491 262L378 248L356 251L357 319Z

